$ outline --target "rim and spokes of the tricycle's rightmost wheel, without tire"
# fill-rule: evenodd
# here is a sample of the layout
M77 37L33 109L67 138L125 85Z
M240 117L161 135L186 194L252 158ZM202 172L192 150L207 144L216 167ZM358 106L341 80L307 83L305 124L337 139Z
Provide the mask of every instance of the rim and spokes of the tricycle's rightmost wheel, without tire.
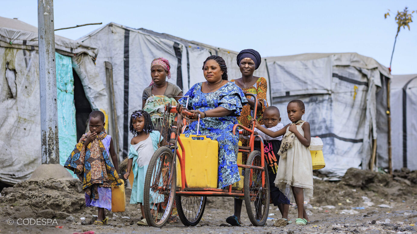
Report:
M252 166L262 167L261 166L261 155L256 155L252 160ZM246 170L249 171L249 200L251 205L251 210L255 219L258 223L263 223L264 219L266 219L266 210L269 210L269 201L265 201L266 199L266 191L263 189L262 186L262 171L259 169L245 169L245 176ZM267 175L265 175L265 181Z

